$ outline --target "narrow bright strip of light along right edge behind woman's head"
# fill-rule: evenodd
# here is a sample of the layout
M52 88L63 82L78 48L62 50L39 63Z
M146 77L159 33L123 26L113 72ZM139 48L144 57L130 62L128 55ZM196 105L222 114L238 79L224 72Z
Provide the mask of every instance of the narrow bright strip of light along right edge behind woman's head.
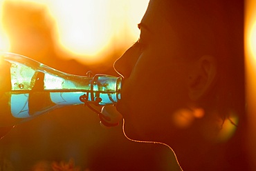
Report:
M251 167L255 168L256 159L256 1L246 1L245 18L245 54L246 54L246 106L248 112L248 152Z

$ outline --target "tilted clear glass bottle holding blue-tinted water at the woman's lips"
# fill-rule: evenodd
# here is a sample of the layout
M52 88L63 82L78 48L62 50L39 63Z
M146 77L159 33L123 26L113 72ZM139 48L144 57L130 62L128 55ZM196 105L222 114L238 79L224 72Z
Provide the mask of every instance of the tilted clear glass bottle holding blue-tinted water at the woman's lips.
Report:
M66 105L110 105L120 99L121 78L60 72L19 54L0 54L0 126L15 125Z

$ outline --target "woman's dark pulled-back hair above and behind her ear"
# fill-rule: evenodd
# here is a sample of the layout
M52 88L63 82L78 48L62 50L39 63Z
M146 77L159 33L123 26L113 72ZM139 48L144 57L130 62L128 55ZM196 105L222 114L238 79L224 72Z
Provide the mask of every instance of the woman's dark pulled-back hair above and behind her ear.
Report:
M185 57L212 55L217 59L214 90L202 99L205 108L218 109L223 119L244 114L244 1L156 0L177 32ZM163 6L164 5L164 6ZM185 49L184 49L185 48ZM214 109L215 108L215 109Z

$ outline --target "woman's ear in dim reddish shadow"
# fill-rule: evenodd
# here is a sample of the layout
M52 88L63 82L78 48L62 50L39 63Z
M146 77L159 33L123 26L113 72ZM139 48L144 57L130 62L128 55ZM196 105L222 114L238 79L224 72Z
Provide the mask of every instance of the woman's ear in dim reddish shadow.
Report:
M217 78L217 62L212 56L205 55L194 63L189 75L189 97L198 101L211 90Z

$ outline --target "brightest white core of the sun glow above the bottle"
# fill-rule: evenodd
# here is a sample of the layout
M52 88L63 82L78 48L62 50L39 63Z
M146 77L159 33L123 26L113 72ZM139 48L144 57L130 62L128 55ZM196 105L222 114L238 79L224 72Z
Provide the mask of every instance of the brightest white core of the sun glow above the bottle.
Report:
M106 2L56 1L52 4L59 37L57 43L74 54L90 57L99 54L111 37Z

